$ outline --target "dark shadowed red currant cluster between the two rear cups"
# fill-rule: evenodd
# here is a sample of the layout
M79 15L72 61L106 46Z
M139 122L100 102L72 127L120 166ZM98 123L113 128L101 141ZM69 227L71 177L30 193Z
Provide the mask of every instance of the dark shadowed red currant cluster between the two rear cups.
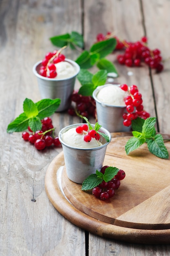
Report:
M82 96L78 92L74 92L71 97L72 107L67 110L71 116L81 115L89 118L89 116L96 117L96 102L91 96Z

